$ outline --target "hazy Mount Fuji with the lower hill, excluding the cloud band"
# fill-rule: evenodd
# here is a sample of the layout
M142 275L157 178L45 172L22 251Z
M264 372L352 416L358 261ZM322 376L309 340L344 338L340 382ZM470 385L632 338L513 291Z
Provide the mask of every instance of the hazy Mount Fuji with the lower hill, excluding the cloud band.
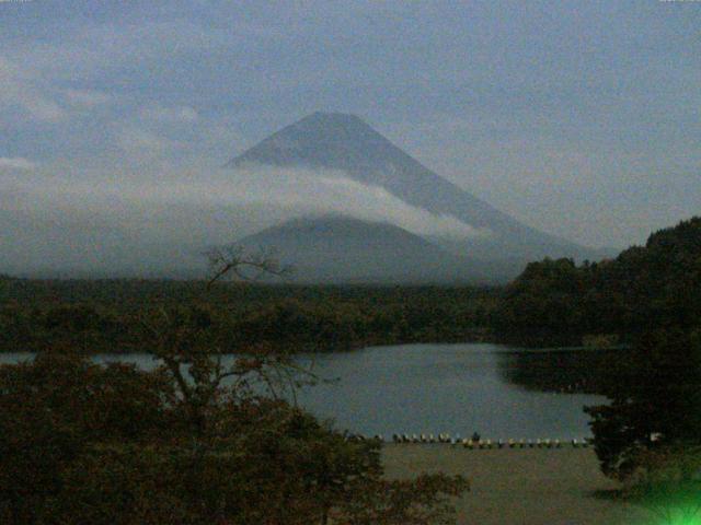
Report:
M504 281L529 260L598 259L604 255L497 210L424 166L354 115L309 115L225 167L266 166L283 174L288 168L320 177L334 173L384 191L428 217L449 219L476 232L463 236L410 232L391 220L336 213L296 218L238 241L248 247L277 248L283 261L301 270L298 276L303 281Z

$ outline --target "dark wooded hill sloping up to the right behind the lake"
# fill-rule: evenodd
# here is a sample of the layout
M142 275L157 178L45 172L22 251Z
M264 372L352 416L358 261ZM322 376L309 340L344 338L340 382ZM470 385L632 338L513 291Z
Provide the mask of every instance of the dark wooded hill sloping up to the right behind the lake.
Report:
M629 342L701 318L701 218L653 233L616 259L531 262L506 289L492 328L529 345Z

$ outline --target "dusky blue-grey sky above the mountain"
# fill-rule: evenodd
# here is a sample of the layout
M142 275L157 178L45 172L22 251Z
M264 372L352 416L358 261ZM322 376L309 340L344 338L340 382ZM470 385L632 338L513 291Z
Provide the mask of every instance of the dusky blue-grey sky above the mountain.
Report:
M214 170L319 109L530 225L641 243L701 213L701 2L0 0L0 191Z

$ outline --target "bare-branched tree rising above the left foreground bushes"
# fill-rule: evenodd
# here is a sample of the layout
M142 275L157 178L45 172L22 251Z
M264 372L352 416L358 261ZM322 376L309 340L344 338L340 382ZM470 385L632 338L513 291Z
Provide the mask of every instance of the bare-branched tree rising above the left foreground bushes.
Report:
M278 262L273 250L251 253L230 245L212 248L205 255L211 269L207 290L229 276L252 281L263 276L284 277L291 271L290 267ZM216 405L225 383L235 397L250 396L251 387L258 384L273 398L280 398L283 392L290 394L296 404L296 389L318 382L311 371L297 365L287 352L267 346L248 348L231 363L225 364L226 341L211 337L208 327L196 317L186 308L169 311L160 307L150 318L143 317L141 325L151 341L154 358L162 361L172 376L177 397L200 432L206 428L207 411Z

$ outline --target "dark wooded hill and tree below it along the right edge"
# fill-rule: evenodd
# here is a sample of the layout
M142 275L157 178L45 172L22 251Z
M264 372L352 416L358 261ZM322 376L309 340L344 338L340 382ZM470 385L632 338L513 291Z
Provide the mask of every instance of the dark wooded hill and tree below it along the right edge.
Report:
M637 481L633 492L658 511L699 510L701 218L613 260L533 262L504 291L494 319L514 339L627 342L606 363L600 388L610 404L586 409L601 468Z

